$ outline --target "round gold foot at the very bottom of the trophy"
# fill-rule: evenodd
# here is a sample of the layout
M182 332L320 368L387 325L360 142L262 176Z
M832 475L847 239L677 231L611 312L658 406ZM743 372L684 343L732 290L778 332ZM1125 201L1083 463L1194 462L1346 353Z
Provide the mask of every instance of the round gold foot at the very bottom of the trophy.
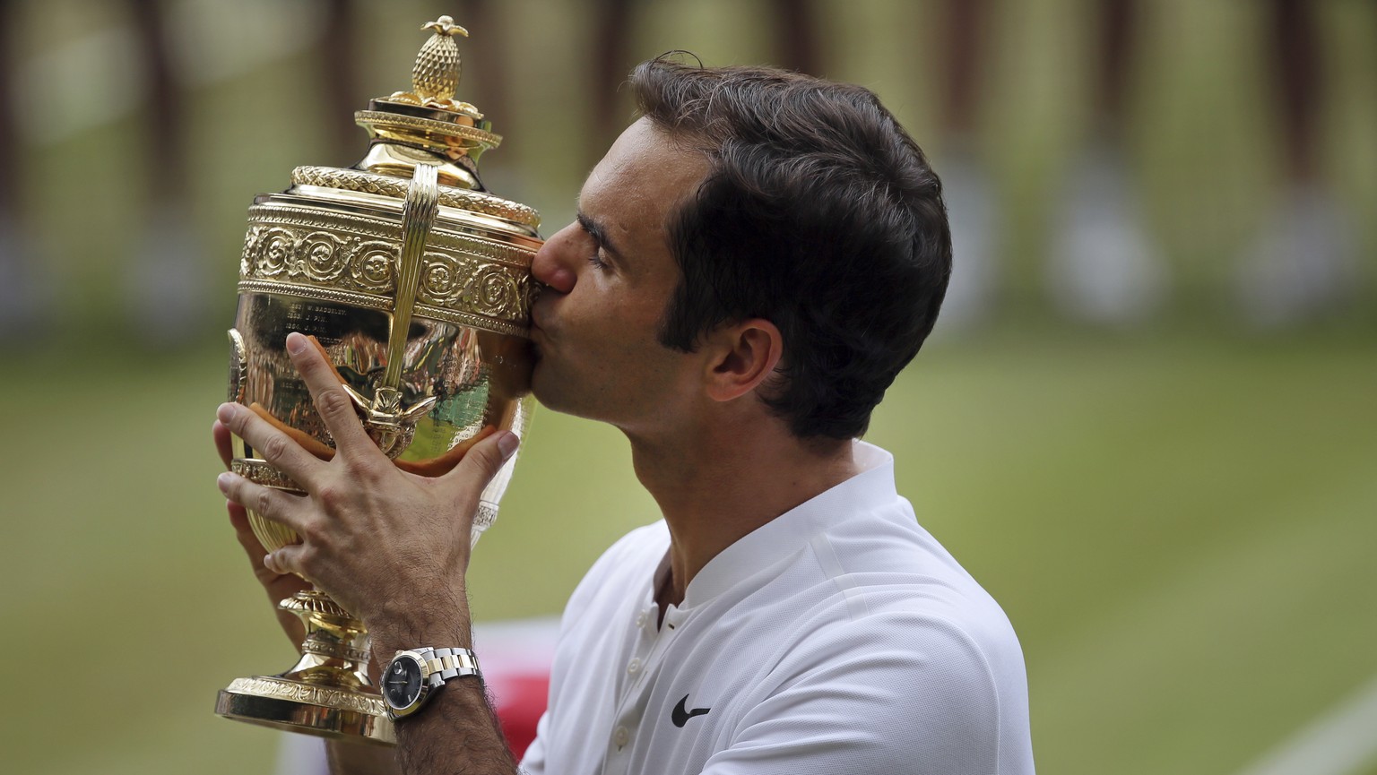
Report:
M344 687L255 676L235 679L220 691L215 713L289 732L397 745L397 731L383 699Z

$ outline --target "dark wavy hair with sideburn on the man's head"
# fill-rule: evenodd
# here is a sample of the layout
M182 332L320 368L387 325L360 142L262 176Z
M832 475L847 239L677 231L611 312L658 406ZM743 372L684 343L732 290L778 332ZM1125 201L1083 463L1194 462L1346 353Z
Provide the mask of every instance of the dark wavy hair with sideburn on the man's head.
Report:
M715 326L784 337L763 401L801 439L850 439L918 352L952 274L942 183L869 89L770 67L665 56L631 76L640 113L709 158L669 216L683 279L658 339Z

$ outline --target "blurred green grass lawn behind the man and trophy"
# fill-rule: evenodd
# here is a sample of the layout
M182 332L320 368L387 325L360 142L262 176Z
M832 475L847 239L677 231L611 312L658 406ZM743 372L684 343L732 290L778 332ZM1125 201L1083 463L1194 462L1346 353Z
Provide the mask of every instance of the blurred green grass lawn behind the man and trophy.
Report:
M895 384L870 438L1015 622L1042 771L1238 769L1377 672L1373 344L1011 329ZM291 651L213 489L220 359L26 370L41 394L0 387L28 407L0 465L10 767L269 767L274 732L211 714ZM614 431L543 412L522 454L475 556L479 619L558 611L654 518Z

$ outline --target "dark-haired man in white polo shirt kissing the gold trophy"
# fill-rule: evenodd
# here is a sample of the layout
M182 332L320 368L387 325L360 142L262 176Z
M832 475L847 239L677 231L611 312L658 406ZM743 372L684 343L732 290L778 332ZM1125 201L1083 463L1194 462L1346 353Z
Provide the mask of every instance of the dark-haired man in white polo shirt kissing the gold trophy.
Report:
M1008 619L917 526L890 456L854 440L942 301L936 176L859 87L664 61L632 85L643 117L532 267L533 388L625 432L664 520L570 599L525 769L1031 772ZM231 501L303 537L259 578L273 593L278 574L314 580L368 624L383 665L468 648L470 520L516 438L410 476L304 337L288 350L339 453L318 461L220 407L222 450L237 432L311 493L222 475ZM402 771L515 771L474 677L397 731ZM340 769L368 753L332 749Z

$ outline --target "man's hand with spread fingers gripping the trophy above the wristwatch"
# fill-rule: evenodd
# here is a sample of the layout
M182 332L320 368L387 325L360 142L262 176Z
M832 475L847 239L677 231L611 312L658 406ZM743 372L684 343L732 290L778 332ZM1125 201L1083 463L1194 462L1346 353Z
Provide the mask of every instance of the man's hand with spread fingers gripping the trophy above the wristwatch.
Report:
M238 403L220 405L220 423L291 476L306 496L222 474L231 501L280 522L300 544L267 555L270 573L311 580L364 619L375 652L468 640L464 574L478 498L516 452L511 432L497 432L468 450L443 476L397 468L368 436L354 403L325 357L302 335L286 339L330 435L336 454L324 461Z

